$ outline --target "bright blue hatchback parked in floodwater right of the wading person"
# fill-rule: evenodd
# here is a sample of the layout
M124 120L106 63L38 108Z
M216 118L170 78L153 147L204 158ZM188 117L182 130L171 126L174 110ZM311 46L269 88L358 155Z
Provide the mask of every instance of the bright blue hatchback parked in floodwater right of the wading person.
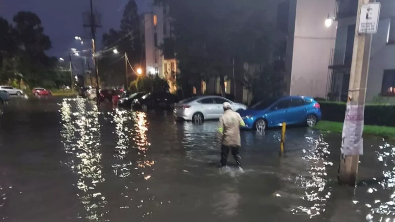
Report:
M247 129L265 130L266 127L307 124L312 127L321 120L320 104L305 96L288 96L274 103L261 101L239 111Z

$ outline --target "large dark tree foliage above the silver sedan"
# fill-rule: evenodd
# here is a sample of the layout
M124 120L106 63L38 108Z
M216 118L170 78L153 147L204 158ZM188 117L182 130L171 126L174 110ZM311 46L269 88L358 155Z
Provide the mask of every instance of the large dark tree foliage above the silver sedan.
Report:
M233 68L234 80L251 90L254 87L252 91L257 95L261 93L257 85L267 79L282 81L275 78L281 75L274 68L273 59L277 40L271 18L272 9L278 4L276 0L155 0L154 3L170 8L182 83L187 82L198 90L202 80L219 77L224 94L224 81L233 79ZM254 75L246 75L246 63L259 64L261 69Z

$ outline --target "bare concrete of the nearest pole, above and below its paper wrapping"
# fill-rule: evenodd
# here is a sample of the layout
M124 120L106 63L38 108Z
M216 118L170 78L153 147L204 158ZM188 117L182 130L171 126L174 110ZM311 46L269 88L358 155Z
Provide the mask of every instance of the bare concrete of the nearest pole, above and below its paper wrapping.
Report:
M371 2L374 2L371 1ZM365 106L367 77L369 72L370 50L372 34L358 34L361 6L369 0L358 0L358 13L355 25L354 49L348 87L348 102ZM359 155L340 155L338 181L340 184L355 186L359 165Z

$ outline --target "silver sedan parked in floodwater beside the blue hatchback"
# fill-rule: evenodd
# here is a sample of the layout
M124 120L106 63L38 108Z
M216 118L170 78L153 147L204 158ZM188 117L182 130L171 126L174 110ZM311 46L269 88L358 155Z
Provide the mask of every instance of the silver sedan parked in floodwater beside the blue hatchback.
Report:
M219 119L224 114L224 102L229 102L233 111L247 108L244 104L232 102L221 96L196 96L177 103L175 116L178 119L193 121Z

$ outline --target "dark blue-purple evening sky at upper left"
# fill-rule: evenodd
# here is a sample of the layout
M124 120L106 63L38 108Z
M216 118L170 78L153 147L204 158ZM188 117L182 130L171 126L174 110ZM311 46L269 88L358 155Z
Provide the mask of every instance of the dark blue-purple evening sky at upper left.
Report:
M150 11L150 0L135 0L139 13ZM128 0L93 0L94 9L102 14L102 26L97 32L97 42L100 44L103 32L110 28L119 28L120 19ZM82 47L74 36L89 37L88 30L83 28L82 13L89 9L89 0L1 0L0 16L12 22L12 17L18 11L36 13L44 27L44 33L52 41L52 49L47 52L50 56L66 57L68 49ZM100 45L98 45L100 47Z

